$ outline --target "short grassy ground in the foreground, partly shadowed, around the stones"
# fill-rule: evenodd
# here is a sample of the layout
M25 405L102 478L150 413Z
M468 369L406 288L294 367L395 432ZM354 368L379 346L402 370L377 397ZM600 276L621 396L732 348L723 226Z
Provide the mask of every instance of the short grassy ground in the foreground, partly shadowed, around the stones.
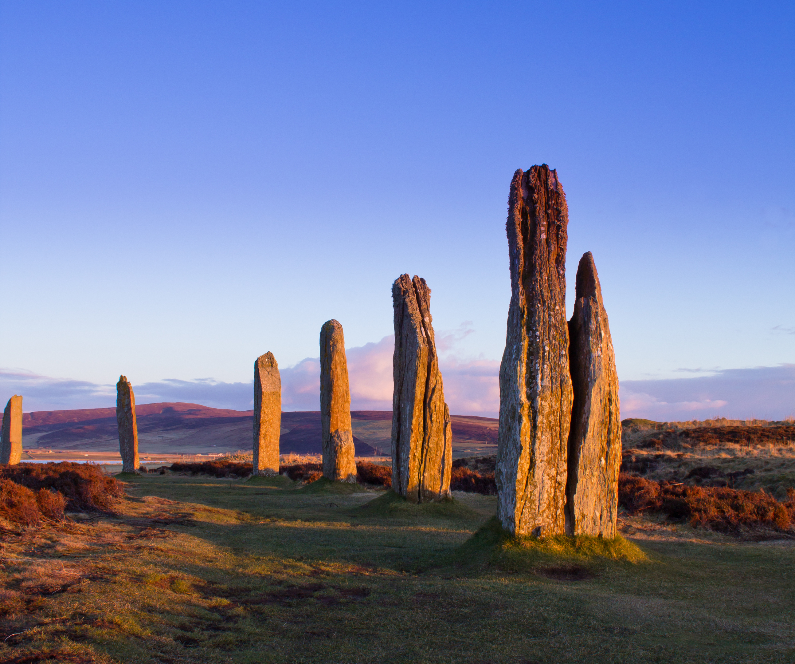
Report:
M0 661L795 662L791 541L624 518L614 560L495 546L493 496L320 488L141 476L6 535Z

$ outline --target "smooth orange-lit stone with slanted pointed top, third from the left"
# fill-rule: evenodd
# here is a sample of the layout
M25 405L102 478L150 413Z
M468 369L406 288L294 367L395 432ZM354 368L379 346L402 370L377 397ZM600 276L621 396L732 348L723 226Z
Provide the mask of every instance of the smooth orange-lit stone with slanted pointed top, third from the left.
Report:
M279 474L281 376L273 353L254 362L254 475Z

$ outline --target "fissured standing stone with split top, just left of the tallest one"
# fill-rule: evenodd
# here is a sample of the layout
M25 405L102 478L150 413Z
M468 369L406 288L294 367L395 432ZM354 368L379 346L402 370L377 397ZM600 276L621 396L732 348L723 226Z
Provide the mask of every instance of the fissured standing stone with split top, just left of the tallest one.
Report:
M430 312L431 289L408 274L392 285L392 487L412 503L450 495L452 426Z

